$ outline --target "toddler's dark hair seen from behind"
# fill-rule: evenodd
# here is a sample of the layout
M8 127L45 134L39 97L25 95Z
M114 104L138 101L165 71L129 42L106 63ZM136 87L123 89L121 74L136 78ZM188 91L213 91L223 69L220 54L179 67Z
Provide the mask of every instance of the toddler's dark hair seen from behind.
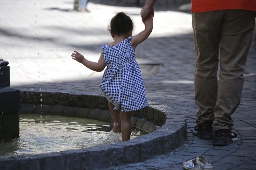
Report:
M133 23L124 12L119 12L112 18L108 30L114 35L126 34L133 29Z

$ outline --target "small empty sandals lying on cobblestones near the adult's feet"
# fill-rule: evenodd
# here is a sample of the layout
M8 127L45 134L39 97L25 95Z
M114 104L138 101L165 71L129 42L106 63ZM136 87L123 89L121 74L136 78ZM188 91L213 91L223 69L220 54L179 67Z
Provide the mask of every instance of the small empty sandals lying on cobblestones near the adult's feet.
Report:
M183 162L183 168L186 170L212 170L212 164L208 163L208 160L203 156L190 159Z

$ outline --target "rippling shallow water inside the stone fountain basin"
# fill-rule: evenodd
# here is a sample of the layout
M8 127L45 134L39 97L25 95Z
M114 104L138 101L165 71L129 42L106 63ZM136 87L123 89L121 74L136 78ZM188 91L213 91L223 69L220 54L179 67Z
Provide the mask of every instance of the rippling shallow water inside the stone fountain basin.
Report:
M145 132L133 130L131 138ZM0 143L0 157L58 152L121 141L112 123L58 115L20 114L20 138Z

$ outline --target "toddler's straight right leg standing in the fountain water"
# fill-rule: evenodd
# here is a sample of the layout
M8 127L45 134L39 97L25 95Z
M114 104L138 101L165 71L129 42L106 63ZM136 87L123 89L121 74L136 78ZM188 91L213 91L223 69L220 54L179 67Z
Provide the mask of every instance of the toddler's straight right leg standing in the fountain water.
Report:
M122 141L128 141L132 131L132 112L120 111Z

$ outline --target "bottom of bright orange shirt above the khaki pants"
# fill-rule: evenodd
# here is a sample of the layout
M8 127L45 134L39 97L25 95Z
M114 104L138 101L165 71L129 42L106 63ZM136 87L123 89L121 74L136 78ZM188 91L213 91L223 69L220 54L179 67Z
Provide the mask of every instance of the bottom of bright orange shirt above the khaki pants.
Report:
M191 12L242 9L256 11L256 0L192 0Z

